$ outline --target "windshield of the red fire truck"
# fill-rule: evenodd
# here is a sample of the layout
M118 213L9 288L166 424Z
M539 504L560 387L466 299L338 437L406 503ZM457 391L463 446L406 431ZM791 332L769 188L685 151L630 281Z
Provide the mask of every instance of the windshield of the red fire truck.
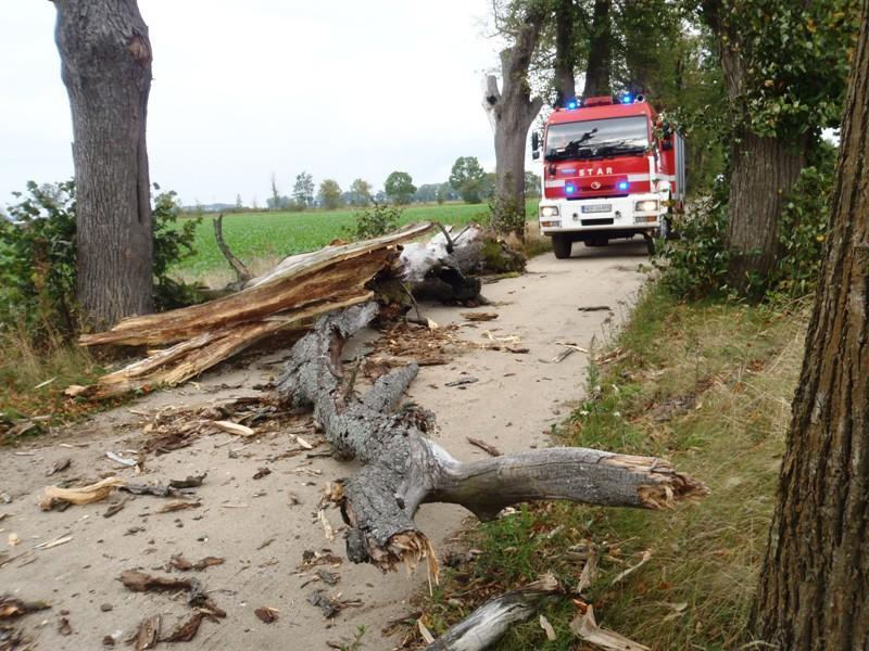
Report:
M643 115L564 123L546 129L547 161L641 154L647 146L648 122Z

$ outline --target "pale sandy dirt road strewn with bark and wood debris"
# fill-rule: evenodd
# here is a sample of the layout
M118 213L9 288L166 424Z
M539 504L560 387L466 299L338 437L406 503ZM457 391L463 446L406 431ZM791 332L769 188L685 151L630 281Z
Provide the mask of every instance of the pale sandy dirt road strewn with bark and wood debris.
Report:
M549 445L551 425L582 397L587 356L577 352L559 363L552 359L565 350L561 344L588 347L593 336L600 341L626 315L643 281L637 269L644 261L642 241L603 250L577 244L569 260L543 255L530 263L526 276L486 285L483 293L494 305L481 310L496 311L496 320L468 323L459 316L466 308L424 306L426 316L441 326L461 323L457 333L464 340L483 342L483 331L489 331L496 337L518 336L529 348L527 354L471 348L448 365L421 370L408 397L436 412L439 442L461 459L483 455L466 442L467 435L503 451ZM587 306L610 309L579 309ZM134 569L166 575L164 566L177 553L192 562L225 559L203 571L168 574L196 577L227 613L217 623L202 623L193 641L182 648L314 651L350 642L361 626L366 629L365 649L391 649L398 643L398 638L381 637L380 630L411 610L407 600L425 585L425 572L408 578L404 573L382 575L369 565L353 565L344 559L340 532L327 540L317 519L326 482L352 473L353 464L305 455L280 458L298 447L286 432L265 433L250 443L229 434L203 436L189 447L149 456L146 472L138 476L134 469L105 457L109 450L124 455L137 448L143 425L166 406L187 408L261 393L253 387L274 376L284 357L286 350L275 350L252 362L248 358L244 367L225 365L198 385L142 398L40 438L29 448L0 451L0 493L12 498L11 503L0 502L0 593L51 603L50 610L18 621L35 649L100 649L105 636L114 636L121 646L142 618L155 614L162 616L163 635L168 635L192 612L184 592L131 592L117 577ZM477 381L444 386L463 378ZM311 443L320 441L313 429L298 433ZM320 445L314 451L327 449ZM47 477L47 470L64 458L72 460L70 468ZM260 469L268 473L259 473ZM113 471L151 483L204 472L207 476L193 490L198 508L161 513L171 499L126 496L124 508L104 518L108 506L125 497L116 494L108 501L62 512L39 510L43 486L70 478L95 481ZM256 474L263 476L253 478ZM327 510L326 515L339 529L337 511ZM428 505L417 522L443 552L466 516L458 507ZM8 545L13 534L20 542ZM71 539L35 549L66 537ZM317 562L311 552L327 554L324 549L339 561L328 562L326 556L324 564L303 563L304 558ZM318 570L337 576L317 575ZM328 585L338 576L336 585ZM316 590L329 597L340 593L341 600L357 604L327 620L307 600ZM260 621L254 615L260 607L277 609L277 621ZM71 630L61 626L63 617Z

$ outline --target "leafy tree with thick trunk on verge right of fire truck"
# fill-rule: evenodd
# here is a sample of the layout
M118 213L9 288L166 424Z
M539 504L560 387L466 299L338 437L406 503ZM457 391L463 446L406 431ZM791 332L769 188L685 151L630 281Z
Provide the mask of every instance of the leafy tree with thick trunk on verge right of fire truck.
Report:
M730 282L776 264L785 195L839 119L854 0L704 0L730 108ZM841 11L836 11L841 10Z

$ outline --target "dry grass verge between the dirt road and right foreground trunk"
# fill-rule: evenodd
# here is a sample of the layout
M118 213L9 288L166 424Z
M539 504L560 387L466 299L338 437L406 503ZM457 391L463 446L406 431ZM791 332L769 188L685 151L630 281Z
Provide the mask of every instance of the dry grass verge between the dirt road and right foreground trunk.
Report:
M524 506L482 524L480 550L446 573L423 605L436 634L487 598L554 572L572 589L583 550L601 553L582 599L599 623L653 649L734 649L743 641L766 546L805 309L681 304L652 286L589 371L589 398L556 432L568 445L663 456L704 481L695 505L652 512L567 503ZM624 579L616 577L650 560ZM575 596L576 597L576 596ZM570 599L513 628L500 649L576 649Z

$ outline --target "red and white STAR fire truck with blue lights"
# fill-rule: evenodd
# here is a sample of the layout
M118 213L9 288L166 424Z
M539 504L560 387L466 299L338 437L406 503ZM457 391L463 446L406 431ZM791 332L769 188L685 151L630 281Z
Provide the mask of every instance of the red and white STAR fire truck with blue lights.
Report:
M540 158L540 136L531 136ZM574 242L605 246L616 238L668 237L668 214L685 189L684 141L642 95L569 101L543 131L540 230L555 257Z

